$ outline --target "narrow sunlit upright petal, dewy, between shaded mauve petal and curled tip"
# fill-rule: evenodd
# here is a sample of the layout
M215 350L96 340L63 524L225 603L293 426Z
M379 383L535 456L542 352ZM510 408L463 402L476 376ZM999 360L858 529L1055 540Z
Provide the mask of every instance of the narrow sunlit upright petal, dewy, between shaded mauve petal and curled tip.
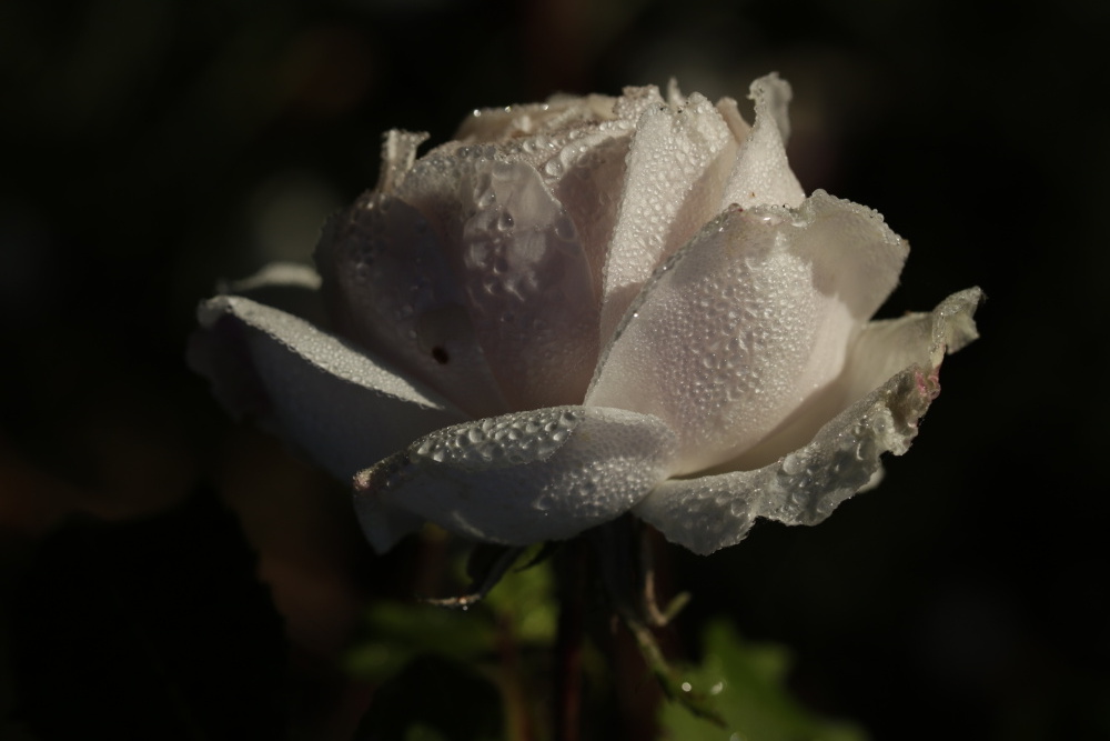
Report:
M736 148L725 119L699 93L685 107L652 107L640 117L605 263L602 337L652 271L719 211Z

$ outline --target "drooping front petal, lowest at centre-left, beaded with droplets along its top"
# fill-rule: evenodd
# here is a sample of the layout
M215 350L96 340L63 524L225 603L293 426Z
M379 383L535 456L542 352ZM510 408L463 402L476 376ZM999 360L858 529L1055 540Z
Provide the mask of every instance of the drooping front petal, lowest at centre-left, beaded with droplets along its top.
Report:
M355 479L379 551L404 534L395 509L460 534L524 545L628 511L665 475L674 433L623 409L555 407L437 430Z

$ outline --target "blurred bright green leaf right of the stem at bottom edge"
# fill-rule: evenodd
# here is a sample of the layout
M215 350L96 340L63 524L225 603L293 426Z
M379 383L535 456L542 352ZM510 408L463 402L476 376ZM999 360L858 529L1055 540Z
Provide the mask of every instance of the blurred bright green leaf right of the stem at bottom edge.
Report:
M683 673L682 689L716 705L726 728L694 715L680 703L660 709L659 724L675 741L864 741L855 725L815 715L785 685L789 657L781 647L745 642L725 621L703 638L705 661Z

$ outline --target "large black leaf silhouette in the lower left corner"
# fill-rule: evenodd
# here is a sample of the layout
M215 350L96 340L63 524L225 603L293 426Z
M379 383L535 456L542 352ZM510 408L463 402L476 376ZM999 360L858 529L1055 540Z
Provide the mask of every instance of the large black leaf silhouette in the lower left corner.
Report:
M40 739L280 739L286 647L235 517L210 492L48 538L12 619Z

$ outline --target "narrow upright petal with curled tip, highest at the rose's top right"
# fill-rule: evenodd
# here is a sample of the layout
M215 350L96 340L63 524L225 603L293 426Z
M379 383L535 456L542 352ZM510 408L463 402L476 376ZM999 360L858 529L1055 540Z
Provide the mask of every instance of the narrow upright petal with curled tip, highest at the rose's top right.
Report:
M786 160L786 140L790 136L787 118L790 94L789 83L777 74L768 74L751 83L756 122L740 144L720 208L730 203L744 208L761 204L794 208L805 199L806 193Z

